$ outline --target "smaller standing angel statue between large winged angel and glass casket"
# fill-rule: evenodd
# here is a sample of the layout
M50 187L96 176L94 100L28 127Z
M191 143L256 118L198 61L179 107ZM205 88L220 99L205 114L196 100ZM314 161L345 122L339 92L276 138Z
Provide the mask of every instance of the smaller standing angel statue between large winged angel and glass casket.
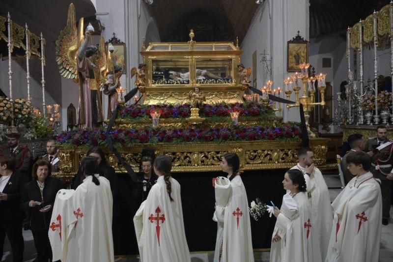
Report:
M103 85L104 94L108 95L108 118L112 116L113 110L117 106L117 89L121 88L120 77L123 73L123 68L119 65L114 66L114 75L109 74L107 82Z

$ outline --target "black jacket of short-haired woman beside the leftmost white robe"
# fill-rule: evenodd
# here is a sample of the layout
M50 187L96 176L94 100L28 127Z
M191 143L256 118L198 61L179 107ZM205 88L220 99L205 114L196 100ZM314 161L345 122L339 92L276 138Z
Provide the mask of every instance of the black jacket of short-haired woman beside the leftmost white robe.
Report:
M30 228L31 230L48 230L51 222L53 205L55 203L56 194L62 188L62 184L56 177L48 176L44 182L43 200L41 191L37 184L37 179L33 179L25 185L22 193L21 208L29 211ZM41 205L34 207L28 206L28 203L33 201L43 202ZM46 205L52 205L48 212L40 212L39 210Z

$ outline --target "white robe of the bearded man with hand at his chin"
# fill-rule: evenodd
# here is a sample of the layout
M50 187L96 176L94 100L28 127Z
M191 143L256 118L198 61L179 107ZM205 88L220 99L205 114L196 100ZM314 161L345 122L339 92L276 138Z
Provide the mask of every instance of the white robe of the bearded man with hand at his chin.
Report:
M299 164L291 169L298 169L304 174L307 193L311 195L309 202L314 217L314 229L316 229L316 233L318 234L322 260L325 260L333 225L333 210L330 203L328 186L321 171L316 167L314 167L311 176L306 175L306 169Z

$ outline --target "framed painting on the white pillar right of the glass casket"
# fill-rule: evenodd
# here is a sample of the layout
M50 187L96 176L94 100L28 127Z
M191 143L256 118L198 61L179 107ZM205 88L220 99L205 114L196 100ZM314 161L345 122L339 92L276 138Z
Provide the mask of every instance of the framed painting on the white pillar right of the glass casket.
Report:
M299 64L309 62L309 42L299 34L287 42L286 71L300 72Z

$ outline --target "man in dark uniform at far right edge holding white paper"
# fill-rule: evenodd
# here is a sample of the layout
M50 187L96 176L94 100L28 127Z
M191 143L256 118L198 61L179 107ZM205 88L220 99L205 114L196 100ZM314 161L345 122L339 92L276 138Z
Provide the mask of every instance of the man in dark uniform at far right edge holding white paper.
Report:
M389 224L393 180L393 143L389 141L387 133L388 129L384 125L377 126L377 136L370 137L365 146L365 151L372 158L370 171L375 178L381 179L383 225Z

